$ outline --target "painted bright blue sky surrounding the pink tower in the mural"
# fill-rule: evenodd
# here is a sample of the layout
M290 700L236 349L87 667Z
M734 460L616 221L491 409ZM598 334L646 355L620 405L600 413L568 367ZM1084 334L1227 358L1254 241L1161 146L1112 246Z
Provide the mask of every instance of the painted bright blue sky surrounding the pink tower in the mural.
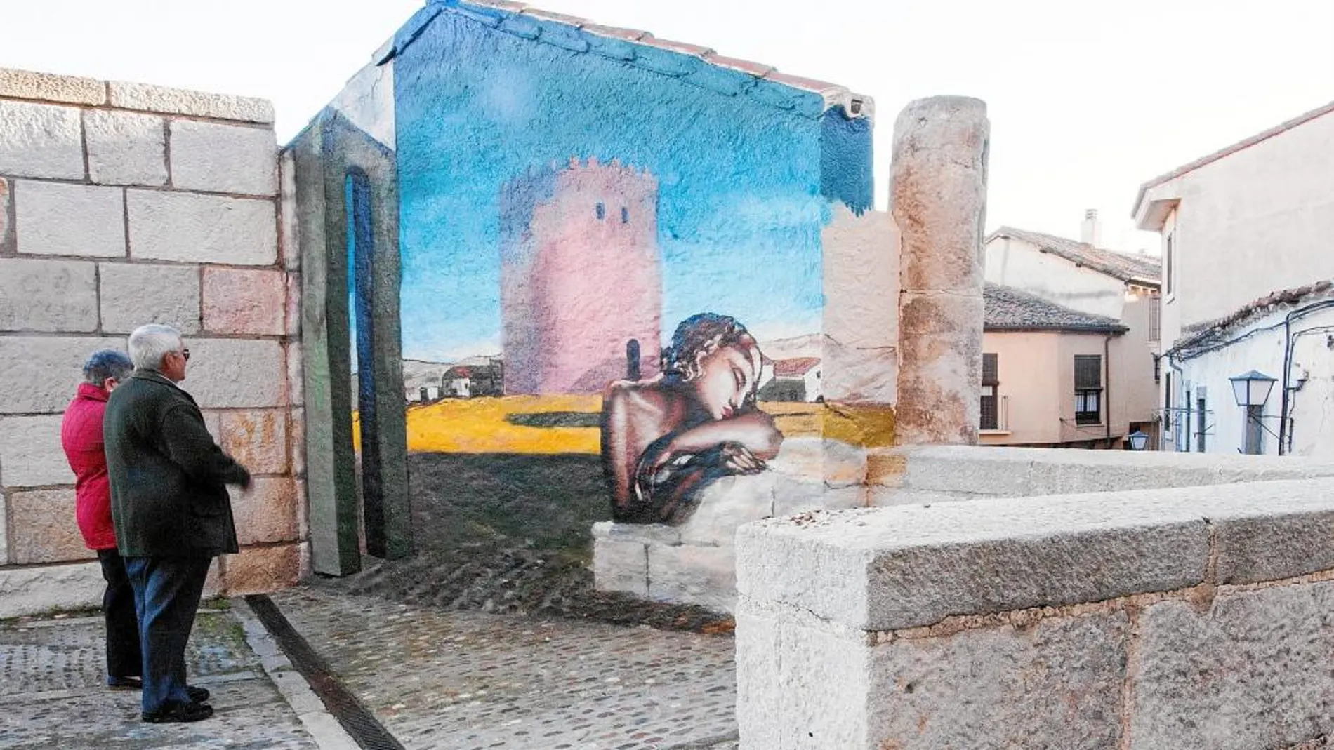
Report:
M664 337L703 310L819 330L818 120L451 12L395 60L395 120L404 357L499 352L502 185L571 157L658 177Z

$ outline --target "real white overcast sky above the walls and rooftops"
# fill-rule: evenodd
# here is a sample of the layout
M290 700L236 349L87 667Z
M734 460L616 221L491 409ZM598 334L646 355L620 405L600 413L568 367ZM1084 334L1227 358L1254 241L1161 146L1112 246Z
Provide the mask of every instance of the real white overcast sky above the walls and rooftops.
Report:
M422 0L5 0L0 67L261 96L285 141ZM987 228L1157 252L1138 185L1334 100L1331 0L543 0L830 80L876 100L876 204L894 117L987 101Z

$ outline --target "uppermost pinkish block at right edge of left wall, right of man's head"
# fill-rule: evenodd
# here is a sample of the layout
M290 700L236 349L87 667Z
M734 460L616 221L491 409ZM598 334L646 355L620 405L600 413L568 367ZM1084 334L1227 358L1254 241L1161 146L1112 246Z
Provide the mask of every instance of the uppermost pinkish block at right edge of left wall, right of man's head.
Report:
M281 270L205 268L204 329L209 333L281 336L285 330Z

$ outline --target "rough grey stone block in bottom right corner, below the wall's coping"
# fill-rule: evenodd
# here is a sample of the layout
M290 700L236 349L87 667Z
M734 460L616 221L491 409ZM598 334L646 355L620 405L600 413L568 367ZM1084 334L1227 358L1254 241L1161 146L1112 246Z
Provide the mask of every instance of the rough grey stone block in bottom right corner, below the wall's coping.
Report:
M1139 615L1129 747L1287 747L1334 733L1334 582Z

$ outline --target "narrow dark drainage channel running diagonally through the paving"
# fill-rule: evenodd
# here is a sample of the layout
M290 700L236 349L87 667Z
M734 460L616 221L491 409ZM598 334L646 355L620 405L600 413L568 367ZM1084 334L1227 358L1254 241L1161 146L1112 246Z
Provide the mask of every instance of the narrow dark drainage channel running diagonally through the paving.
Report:
M287 659L292 662L296 671L305 678L311 690L324 702L324 707L363 750L406 750L384 729L384 725L362 705L362 701L339 681L338 675L329 671L324 659L292 627L292 623L287 621L272 599L265 594L252 594L245 597L245 603L251 606L268 634L277 641L277 646L287 654Z

